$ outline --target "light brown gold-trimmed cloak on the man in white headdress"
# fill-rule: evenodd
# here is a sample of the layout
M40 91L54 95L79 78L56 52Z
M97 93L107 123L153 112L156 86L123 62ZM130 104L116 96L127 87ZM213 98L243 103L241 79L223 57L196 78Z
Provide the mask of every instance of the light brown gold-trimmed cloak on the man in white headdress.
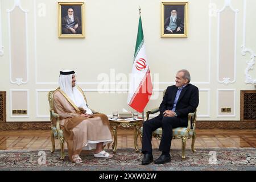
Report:
M82 94L84 96L84 93ZM60 115L60 127L72 162L75 162L83 149L92 150L96 148L97 143L103 142L106 145L112 142L109 120L105 114L80 117L80 109L61 89L55 91L53 100L53 109Z

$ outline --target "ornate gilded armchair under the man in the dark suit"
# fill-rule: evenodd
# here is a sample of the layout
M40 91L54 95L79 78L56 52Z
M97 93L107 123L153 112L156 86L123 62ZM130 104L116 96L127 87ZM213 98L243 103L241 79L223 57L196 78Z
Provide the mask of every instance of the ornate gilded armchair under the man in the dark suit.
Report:
M163 92L163 96L166 90ZM146 121L147 122L150 114L155 114L159 111L159 107L156 107L155 109L151 109L149 111L146 111ZM192 126L192 127L191 127ZM142 129L141 127L141 139L142 139ZM157 139L161 139L162 137L162 128L156 129L152 133L153 137ZM196 141L196 111L194 113L188 113L188 126L187 127L177 127L175 129L172 129L172 139L181 139L181 145L182 145L182 159L185 159L185 148L186 148L186 141L187 139L192 138L191 143L191 149L193 152L196 152L195 150L195 141Z

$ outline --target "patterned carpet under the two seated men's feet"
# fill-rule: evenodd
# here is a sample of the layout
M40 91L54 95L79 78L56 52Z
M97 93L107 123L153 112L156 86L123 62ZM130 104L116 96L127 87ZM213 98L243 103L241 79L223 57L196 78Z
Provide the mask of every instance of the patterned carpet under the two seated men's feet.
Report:
M107 150L111 152L110 150ZM65 152L67 154L67 151ZM160 155L153 150L154 159ZM93 154L81 155L83 163L75 164L60 151L49 150L0 151L0 170L83 170L83 171L167 171L167 170L256 170L256 148L201 148L193 154L186 151L187 159L181 160L181 149L171 150L171 163L141 165L143 155L133 148L117 150L113 159L94 158Z

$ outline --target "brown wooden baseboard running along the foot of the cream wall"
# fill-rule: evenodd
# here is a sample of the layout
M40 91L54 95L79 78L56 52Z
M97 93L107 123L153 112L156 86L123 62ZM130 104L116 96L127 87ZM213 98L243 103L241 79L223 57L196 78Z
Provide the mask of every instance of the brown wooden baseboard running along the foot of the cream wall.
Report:
M196 129L256 129L255 121L197 121ZM51 130L50 122L0 123L0 130Z

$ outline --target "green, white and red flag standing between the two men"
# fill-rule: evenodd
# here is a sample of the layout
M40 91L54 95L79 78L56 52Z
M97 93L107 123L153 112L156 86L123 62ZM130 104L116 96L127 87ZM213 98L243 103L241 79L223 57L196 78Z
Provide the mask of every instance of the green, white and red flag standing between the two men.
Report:
M146 57L144 36L142 30L141 16L139 16L139 27L137 34L137 42L135 47L133 68L131 71L131 79L127 103L133 109L142 113L150 100L152 94L152 81L150 69Z

